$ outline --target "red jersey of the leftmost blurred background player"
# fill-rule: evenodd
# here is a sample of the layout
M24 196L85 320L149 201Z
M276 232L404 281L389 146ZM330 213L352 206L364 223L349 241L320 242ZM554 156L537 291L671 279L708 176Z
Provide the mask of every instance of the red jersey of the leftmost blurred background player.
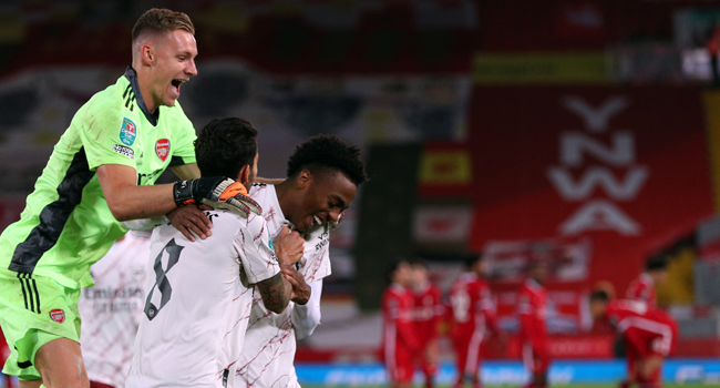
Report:
M412 294L398 284L391 284L382 296L382 343L385 350L398 348L416 351L420 344L412 320Z

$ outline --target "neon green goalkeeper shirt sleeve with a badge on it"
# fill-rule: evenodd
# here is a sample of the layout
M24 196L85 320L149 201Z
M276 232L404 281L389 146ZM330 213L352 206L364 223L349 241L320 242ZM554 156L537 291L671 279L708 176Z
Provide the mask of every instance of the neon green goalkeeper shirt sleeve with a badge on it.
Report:
M78 126L91 171L104 164L136 169L138 129L132 119L123 116L120 108L94 103L84 115L75 116L72 125Z

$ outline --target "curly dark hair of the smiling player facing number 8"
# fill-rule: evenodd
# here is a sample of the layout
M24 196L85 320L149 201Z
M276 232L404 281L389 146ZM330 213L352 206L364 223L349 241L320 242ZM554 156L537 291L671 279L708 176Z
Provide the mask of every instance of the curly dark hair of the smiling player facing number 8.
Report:
M339 171L356 186L368 181L360 149L347 144L336 135L312 136L295 149L288 161L288 177L296 176L304 169L312 173L323 170Z

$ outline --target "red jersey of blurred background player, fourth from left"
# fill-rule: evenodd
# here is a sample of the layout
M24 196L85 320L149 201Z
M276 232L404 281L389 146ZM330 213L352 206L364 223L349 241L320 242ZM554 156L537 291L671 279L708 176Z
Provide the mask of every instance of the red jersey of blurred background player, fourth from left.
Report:
M533 345L538 340L545 340L547 338L547 293L545 287L533 279L527 279L521 287L517 297L521 338Z

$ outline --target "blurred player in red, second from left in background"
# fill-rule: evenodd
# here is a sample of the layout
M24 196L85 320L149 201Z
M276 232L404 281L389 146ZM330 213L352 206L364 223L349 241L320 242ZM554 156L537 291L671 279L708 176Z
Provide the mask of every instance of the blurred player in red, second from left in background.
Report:
M425 387L432 388L435 386L434 379L438 374L440 358L438 337L444 306L442 305L442 292L428 279L428 264L423 261L412 264L411 293L414 331L421 347L416 360L425 376Z

